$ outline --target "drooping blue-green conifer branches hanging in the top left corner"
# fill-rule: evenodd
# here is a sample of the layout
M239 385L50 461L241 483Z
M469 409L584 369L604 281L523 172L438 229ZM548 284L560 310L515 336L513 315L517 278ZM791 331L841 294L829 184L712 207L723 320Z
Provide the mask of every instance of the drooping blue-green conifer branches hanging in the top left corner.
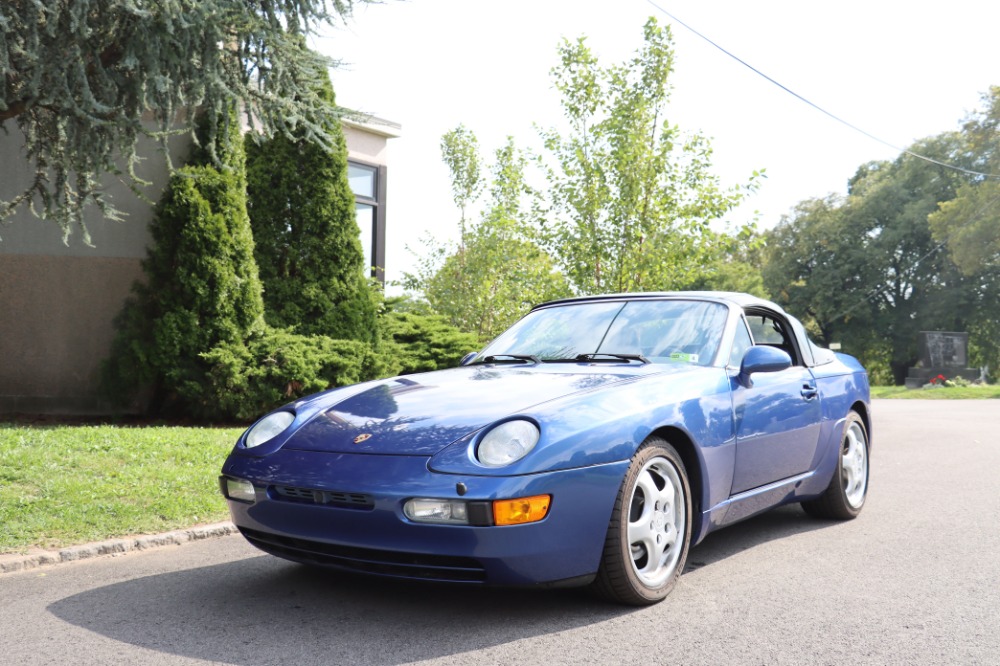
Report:
M269 135L325 144L336 112L315 92L320 58L303 36L354 1L0 3L0 125L17 125L35 167L24 192L0 200L0 220L31 204L69 234L87 202L116 216L101 177L138 190L139 137L190 129L196 109L220 114L238 101Z

